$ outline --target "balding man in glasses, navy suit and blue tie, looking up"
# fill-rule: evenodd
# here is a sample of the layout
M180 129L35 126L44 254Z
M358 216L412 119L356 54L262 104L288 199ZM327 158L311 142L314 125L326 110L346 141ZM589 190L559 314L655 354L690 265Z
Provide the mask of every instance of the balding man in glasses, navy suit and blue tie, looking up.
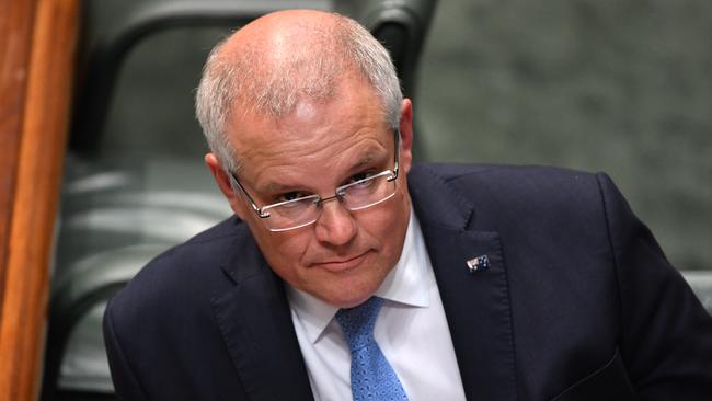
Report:
M246 25L197 115L237 218L110 303L120 399L712 399L712 320L610 180L412 165L411 102L355 22Z

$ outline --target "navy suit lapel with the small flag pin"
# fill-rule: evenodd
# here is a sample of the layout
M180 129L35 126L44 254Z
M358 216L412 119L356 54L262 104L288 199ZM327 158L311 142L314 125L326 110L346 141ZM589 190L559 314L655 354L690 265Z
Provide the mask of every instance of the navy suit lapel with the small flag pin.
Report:
M499 236L476 231L474 207L427 168L413 169L418 216L468 399L515 400L516 366L507 275ZM467 261L490 267L470 273Z

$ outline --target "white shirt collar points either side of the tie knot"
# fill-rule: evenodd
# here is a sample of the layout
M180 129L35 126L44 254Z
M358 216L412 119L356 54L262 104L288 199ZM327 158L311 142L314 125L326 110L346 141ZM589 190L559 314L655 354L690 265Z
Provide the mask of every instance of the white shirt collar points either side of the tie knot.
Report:
M376 296L416 308L429 306L427 274L428 256L421 225L411 208L401 257L381 283ZM309 340L315 343L338 311L319 298L287 285L287 297Z

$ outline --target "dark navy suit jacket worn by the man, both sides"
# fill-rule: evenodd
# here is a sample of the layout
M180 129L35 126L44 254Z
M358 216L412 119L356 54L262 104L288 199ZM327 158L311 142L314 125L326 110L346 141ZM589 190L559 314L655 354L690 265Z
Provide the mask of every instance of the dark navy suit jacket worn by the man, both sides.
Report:
M421 164L409 186L468 399L712 400L712 319L606 175ZM123 400L312 399L237 218L153 260L104 335Z

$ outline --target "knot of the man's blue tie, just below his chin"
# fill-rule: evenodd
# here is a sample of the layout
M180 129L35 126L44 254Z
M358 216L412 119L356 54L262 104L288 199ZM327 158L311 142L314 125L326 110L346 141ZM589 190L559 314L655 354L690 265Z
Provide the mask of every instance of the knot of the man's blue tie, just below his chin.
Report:
M336 312L336 322L344 332L344 337L352 352L374 341L374 326L376 326L376 319L382 305L382 298L371 297L357 307L340 309Z

